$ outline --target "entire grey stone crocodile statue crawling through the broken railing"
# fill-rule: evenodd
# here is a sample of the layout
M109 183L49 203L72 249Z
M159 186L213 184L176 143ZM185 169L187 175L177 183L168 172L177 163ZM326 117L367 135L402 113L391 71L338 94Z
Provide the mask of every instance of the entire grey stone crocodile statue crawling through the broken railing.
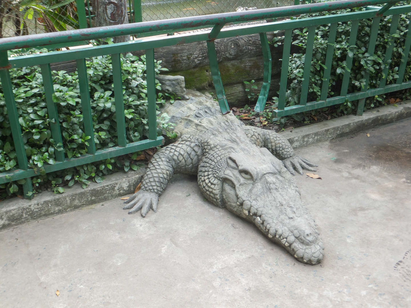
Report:
M293 169L302 174L316 165L296 156L278 133L245 126L232 113L222 115L209 97L189 94L188 101L163 108L180 138L152 157L140 191L124 209L141 210L143 217L157 211L173 173L194 174L208 201L250 221L300 262L321 262L319 232L291 176Z

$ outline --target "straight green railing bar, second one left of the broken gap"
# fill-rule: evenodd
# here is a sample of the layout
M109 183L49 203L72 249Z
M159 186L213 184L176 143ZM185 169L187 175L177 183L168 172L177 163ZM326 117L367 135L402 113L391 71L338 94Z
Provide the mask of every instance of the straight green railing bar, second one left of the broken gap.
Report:
M113 65L115 122L117 124L118 145L120 147L125 147L127 145L127 139L120 53L111 55L111 64Z

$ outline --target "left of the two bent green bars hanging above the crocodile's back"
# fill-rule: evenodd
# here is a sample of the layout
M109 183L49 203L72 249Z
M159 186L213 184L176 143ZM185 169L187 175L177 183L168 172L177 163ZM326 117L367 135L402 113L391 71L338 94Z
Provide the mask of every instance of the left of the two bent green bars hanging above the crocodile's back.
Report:
M215 51L214 40L207 41L208 61L210 62L210 71L212 82L215 87L215 95L220 106L221 113L225 115L230 112L229 104L227 103L226 94L224 92L223 82L221 80L220 71L218 69L217 52Z

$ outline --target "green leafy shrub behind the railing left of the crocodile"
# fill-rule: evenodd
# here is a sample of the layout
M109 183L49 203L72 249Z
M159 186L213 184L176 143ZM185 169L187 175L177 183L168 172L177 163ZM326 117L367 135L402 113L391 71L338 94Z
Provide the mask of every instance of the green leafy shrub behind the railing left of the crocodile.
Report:
M147 124L147 83L145 81L145 56L121 55L123 97L125 103L125 120L128 142L136 142L148 136ZM159 74L162 70L161 61L155 64L155 71ZM111 57L94 57L86 62L89 78L90 101L92 106L92 119L94 125L94 140L96 149L106 149L118 143L116 131L116 114L113 93L113 73ZM51 138L50 122L48 117L45 94L43 91L42 75L39 67L22 67L11 69L10 76L14 87L19 122L22 126L23 142L28 157L30 168L37 168L39 175L32 178L35 189L46 184L55 187L55 192L62 192L64 178L69 181L69 186L80 182L87 187L91 180L101 182L102 177L118 170L137 170L138 165L131 161L132 155L124 155L88 163L76 168L45 173L44 164L54 164L55 152L62 150L65 157L78 157L87 153L89 136L85 136L83 128L83 115L78 84L77 72L66 74L65 71L53 72L54 94L53 101L57 104L60 128L63 143L56 143ZM157 83L157 89L161 90ZM160 114L159 105L165 102L161 93L157 96L157 133L165 130L171 135L172 126L166 124L169 117ZM2 91L0 93L0 172L11 170L16 166L16 152L7 115ZM135 154L134 156L136 156ZM135 158L135 157L134 157ZM0 184L6 188L8 195L17 193L20 185L25 180L8 184ZM1 192L0 192L1 193ZM3 191L0 198L5 197Z

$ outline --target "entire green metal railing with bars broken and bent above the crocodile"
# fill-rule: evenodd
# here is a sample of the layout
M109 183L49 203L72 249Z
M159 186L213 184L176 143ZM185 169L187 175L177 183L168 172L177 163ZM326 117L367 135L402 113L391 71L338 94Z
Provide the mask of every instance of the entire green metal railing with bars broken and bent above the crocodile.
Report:
M16 148L18 169L14 169L8 172L2 172L0 174L0 184L9 181L15 181L18 179L26 179L23 184L24 193L27 198L27 193L32 191L30 177L35 176L36 170L28 168L27 156L25 154L25 148L23 138L21 136L21 126L18 122L18 114L16 103L14 101L14 93L12 83L9 76L9 69L16 67L27 67L33 65L39 65L41 67L44 92L46 96L46 103L48 109L48 115L51 119L54 119L51 123L52 138L57 143L62 143L62 136L60 133L60 125L58 122L57 106L53 102L53 83L51 77L50 63L59 62L62 60L76 60L78 74L79 74L79 88L81 94L81 105L83 109L83 121L84 131L87 136L90 136L90 144L87 147L88 154L82 155L78 158L67 159L65 158L63 151L56 151L56 163L53 165L44 165L46 172L52 172L56 170L62 170L65 168L74 167L77 165L83 165L93 161L99 161L122 154L128 154L131 152L155 147L163 143L162 137L157 137L156 127L156 94L155 94L155 68L154 68L154 48L171 46L176 44L184 44L195 41L206 41L208 47L208 57L210 60L210 69L212 73L212 79L215 85L217 94L217 100L223 114L229 113L230 109L226 101L224 94L224 87L221 81L218 64L217 54L215 49L215 39L235 37L238 35L259 33L261 38L261 45L263 48L264 56L264 80L257 101L255 110L262 111L267 97L268 90L270 88L271 78L271 55L269 49L269 43L267 40L266 32L285 30L284 37L284 51L282 61L282 73L279 90L279 104L278 109L274 110L277 113L277 117L284 115L290 115L307 110L313 110L316 108L323 108L326 106L332 106L338 103L344 103L345 101L359 100L358 115L362 114L365 99L378 94L387 92L393 92L405 88L411 87L411 82L403 82L404 71L406 69L406 61L408 59L409 50L411 46L411 37L407 34L404 56L402 63L399 67L397 82L394 85L385 85L386 79L381 78L380 86L376 89L367 89L369 76L365 76L367 83L361 92L347 94L348 84L350 81L350 74L344 74L341 93L337 97L327 98L328 83L330 78L332 54L334 50L335 35L337 31L337 23L352 21L351 34L349 39L349 45L352 46L356 43L358 22L362 18L373 18L371 39L368 46L368 53L374 54L375 42L378 34L379 21L382 16L393 15L393 21L391 23L390 32L395 33L397 29L397 23L399 14L408 13L411 11L411 5L392 7L397 1L388 2L383 0L344 0L344 1L331 1L320 2L308 5L296 5L292 7L280 7L272 9L260 9L254 11L242 11L227 14L215 14L207 16L195 16L190 18L177 18L164 21L155 22L143 22L133 23L126 25L116 25L109 27L88 28L72 31L52 32L44 34L34 34L22 37L10 37L0 39L0 78L4 91L4 98L6 101L7 112L9 115L10 126L12 129L12 136L14 140L14 147ZM381 7L370 7L375 5L383 5ZM307 14L320 11L333 11L337 9L347 9L354 7L367 7L365 11L351 12L346 14L336 14L328 16L320 16L313 18L305 18L298 20L286 20L279 22L268 22L254 25L243 25L232 28L225 28L226 23L233 22L246 22L256 21L264 19L272 19L284 16L296 16L299 14ZM307 40L307 53L305 55L305 63L311 64L312 59L312 47L315 39L315 27L317 25L331 24L329 34L329 44L326 55L326 69L324 70L324 80L321 89L321 97L319 101L307 102L308 82L310 66L304 66L302 82L302 91L300 104L296 106L285 107L285 94L287 88L287 76L289 66L289 55L292 31L296 28L308 27L308 40ZM41 53L35 55L26 55L19 57L7 57L7 51L18 48L29 48L36 46L50 46L60 43L71 43L76 41L84 41L85 39L99 39L105 37L114 37L120 35L132 35L141 34L143 36L157 35L162 33L171 32L171 30L183 30L183 29L199 29L204 27L211 27L210 31L201 31L194 33L178 34L167 37L150 37L144 40L129 41L126 43L95 46L67 51L55 51L49 53ZM92 124L92 109L90 106L90 94L88 89L88 77L85 66L85 59L90 57L97 57L100 55L111 55L113 64L113 83L114 83L114 97L115 97L115 110L117 113L124 114L124 103L122 97L122 76L121 76L121 64L120 53L126 53L136 50L145 50L146 52L146 64L147 64L147 90L148 90L148 126L149 126L149 139L141 140L134 143L127 143L125 134L125 117L117 117L117 131L118 131L118 146L108 149L97 150L94 143L94 129ZM386 57L384 62L388 62L391 58L393 51L393 44L389 45L386 50ZM347 73L351 70L353 58L347 55L346 58L346 70ZM385 69L384 76L387 76L388 67ZM54 123L53 123L54 122Z

